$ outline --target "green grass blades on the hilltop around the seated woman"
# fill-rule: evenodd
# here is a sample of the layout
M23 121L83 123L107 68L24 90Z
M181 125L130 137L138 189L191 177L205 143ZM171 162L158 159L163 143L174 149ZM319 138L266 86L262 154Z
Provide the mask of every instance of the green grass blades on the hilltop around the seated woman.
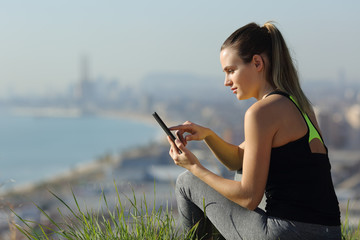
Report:
M59 220L53 219L42 208L35 206L48 220L48 224L41 224L31 220L23 219L21 216L13 213L20 219L20 224L13 224L27 239L193 239L197 226L194 226L189 232L182 232L176 226L172 215L172 209L169 206L161 206L156 209L155 206L155 185L154 202L149 205L145 195L138 201L135 192L132 191L132 198L125 195L126 203L121 201L120 193L115 184L117 202L115 207L110 207L104 194L101 194L100 200L105 204L105 208L97 211L83 210L72 193L75 207L71 208L59 196L50 192L61 204L69 211L65 215L59 208ZM151 207L151 209L150 209ZM341 225L342 239L355 240L360 239L360 221L357 228L349 224L349 202L347 205L345 221ZM215 232L215 237L216 239ZM221 237L220 237L221 238ZM221 238L222 239L222 238Z

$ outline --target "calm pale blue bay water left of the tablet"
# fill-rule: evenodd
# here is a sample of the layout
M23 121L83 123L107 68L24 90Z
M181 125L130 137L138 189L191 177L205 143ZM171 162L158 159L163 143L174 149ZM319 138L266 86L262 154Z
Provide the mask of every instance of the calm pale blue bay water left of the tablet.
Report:
M147 144L158 133L134 119L0 116L0 190Z

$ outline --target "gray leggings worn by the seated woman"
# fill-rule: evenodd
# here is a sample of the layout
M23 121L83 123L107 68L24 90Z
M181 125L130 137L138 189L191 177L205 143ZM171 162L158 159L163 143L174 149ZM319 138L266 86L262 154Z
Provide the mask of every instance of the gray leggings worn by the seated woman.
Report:
M178 177L175 195L184 228L190 229L200 222L199 239L210 238L212 226L227 240L341 239L340 226L278 219L267 216L260 208L248 210L228 200L188 171Z

